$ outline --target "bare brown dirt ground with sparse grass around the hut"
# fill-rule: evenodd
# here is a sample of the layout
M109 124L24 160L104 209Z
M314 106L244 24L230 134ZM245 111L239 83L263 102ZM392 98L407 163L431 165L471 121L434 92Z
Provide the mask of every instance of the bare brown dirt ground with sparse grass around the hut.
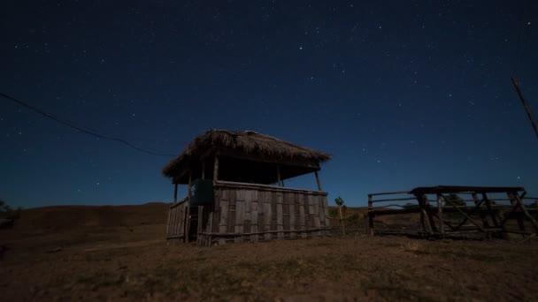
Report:
M166 244L165 204L23 211L3 301L538 300L538 243L366 237Z

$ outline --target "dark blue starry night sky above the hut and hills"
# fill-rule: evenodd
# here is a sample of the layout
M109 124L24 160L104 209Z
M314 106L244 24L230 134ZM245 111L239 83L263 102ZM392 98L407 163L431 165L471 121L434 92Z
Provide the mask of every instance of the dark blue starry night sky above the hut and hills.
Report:
M6 0L0 92L159 153L208 129L317 148L334 156L330 203L419 185L538 195L538 140L510 79L538 116L537 26L536 1ZM171 201L171 159L0 99L13 207Z

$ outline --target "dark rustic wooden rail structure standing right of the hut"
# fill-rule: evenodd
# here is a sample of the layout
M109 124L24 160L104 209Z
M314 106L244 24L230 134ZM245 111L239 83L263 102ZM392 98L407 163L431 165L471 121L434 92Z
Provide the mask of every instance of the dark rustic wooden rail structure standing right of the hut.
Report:
M411 195L411 196L410 196ZM468 196L462 199L459 196ZM457 196L457 200L453 199ZM452 197L452 198L451 198ZM417 203L409 201L416 200ZM524 200L534 200L533 208ZM367 232L404 233L445 237L482 233L488 238L501 233L538 235L535 198L526 197L522 187L447 186L418 187L411 191L368 194ZM406 202L404 204L404 202ZM375 218L383 215L419 214L419 230L399 225L378 230ZM514 230L510 222L517 223ZM530 228L526 225L530 224Z

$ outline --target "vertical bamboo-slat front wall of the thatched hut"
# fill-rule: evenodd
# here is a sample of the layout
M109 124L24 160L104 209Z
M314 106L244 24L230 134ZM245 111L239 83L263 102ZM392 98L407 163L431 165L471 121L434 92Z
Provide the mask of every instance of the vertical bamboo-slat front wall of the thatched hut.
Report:
M262 241L324 236L327 193L216 182L214 206L204 208L198 242Z

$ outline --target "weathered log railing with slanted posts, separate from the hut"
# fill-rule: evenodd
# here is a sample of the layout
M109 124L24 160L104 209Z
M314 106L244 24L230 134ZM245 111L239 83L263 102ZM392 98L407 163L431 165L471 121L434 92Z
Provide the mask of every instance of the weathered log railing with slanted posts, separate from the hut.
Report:
M457 201L447 193L426 194L427 201L410 193L368 194L366 232L435 237L482 233L488 238L496 233L538 235L538 198L526 193L510 198L513 192L458 192Z

